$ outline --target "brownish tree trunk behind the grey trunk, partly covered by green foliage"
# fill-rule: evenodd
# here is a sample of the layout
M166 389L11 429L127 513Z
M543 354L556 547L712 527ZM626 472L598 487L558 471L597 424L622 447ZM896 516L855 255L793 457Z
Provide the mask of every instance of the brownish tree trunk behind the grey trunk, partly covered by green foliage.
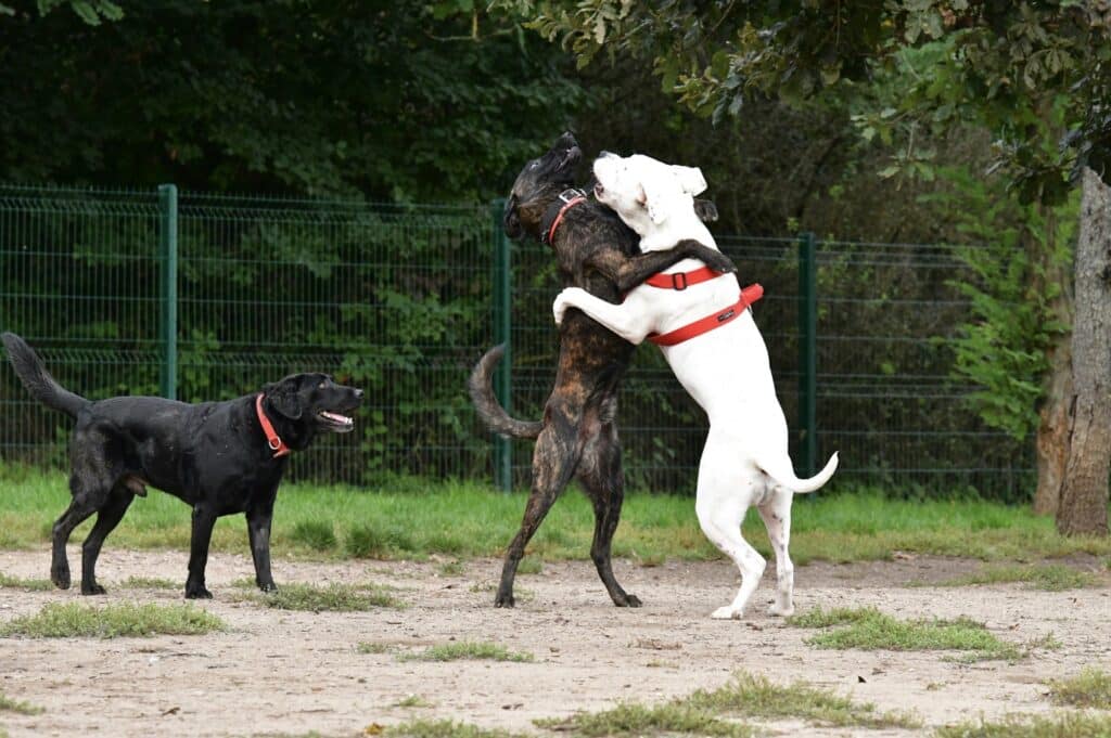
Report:
M1072 325L1071 260L1058 254L1057 215L1050 205L1042 205L1043 234L1028 236L1030 263L1033 270L1032 289L1047 294L1050 285L1057 296L1049 304L1053 320L1061 325ZM1053 336L1047 352L1049 372L1042 377L1042 401L1038 408L1038 488L1033 510L1037 515L1057 515L1061 501L1061 483L1069 458L1069 407L1072 404L1072 337L1068 332Z

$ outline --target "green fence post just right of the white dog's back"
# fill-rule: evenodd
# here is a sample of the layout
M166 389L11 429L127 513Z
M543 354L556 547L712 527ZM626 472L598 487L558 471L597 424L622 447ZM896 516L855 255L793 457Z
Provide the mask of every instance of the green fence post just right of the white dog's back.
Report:
M818 264L813 233L799 235L799 474L818 462Z

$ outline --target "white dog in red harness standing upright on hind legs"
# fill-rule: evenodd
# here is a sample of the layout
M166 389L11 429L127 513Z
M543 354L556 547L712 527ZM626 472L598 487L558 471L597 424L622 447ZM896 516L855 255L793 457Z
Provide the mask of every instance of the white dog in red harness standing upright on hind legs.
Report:
M705 190L700 170L649 156L603 152L594 161L594 195L640 234L641 251L671 249L683 239L717 247L694 213L693 195ZM769 611L791 615L794 566L788 545L792 497L825 484L837 469L838 455L834 453L810 479L794 475L788 455L787 419L775 398L768 348L748 310L759 295L745 300L734 275L719 275L700 266L701 262L693 260L679 262L662 280L667 286L641 284L620 305L569 287L556 297L552 312L560 323L569 307L578 307L631 343L648 337L660 344L675 377L710 419L698 475L699 524L741 572L737 597L712 617L740 617L763 575L763 557L741 536L741 523L752 505L760 510L775 552L777 596ZM701 328L691 327L687 333L698 335L683 338L681 330L692 325Z

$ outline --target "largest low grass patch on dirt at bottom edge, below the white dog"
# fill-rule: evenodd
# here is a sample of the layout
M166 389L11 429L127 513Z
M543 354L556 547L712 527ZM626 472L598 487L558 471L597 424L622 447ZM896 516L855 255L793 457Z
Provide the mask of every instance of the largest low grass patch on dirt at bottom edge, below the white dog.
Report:
M728 736L760 735L740 719L801 719L812 725L860 728L914 728L920 721L895 712L878 714L832 691L802 683L783 687L765 677L738 674L725 686L699 690L654 706L622 702L601 712L538 720L542 728L572 736Z

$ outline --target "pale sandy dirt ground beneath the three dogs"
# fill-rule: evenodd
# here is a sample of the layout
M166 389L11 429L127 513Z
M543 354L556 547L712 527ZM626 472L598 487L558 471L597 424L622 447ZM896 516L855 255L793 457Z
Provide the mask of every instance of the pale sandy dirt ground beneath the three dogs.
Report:
M80 552L70 550L79 566ZM183 584L184 552L107 549L98 574L109 594L0 589L0 621L36 613L50 601L182 601L179 590L112 587L128 577ZM1074 565L1101 572L1097 559ZM695 688L717 688L743 669L788 684L802 679L874 702L911 709L930 727L1008 712L1051 708L1044 681L1085 666L1111 668L1111 580L1063 593L1023 585L907 587L971 572L977 563L907 557L892 563L812 564L797 569L797 607L875 605L899 617L969 616L1001 638L1025 644L1052 634L1058 649L1035 649L1015 664L960 665L938 653L819 650L812 635L763 613L765 577L745 619L711 620L733 595L737 577L724 562L644 568L615 562L619 580L644 601L610 605L589 562L544 564L518 578L518 607L491 606L496 560L306 563L279 559L283 582L378 583L398 588L404 609L294 613L234 601L231 582L252 576L246 556L214 555L208 583L216 599L201 607L230 629L208 636L100 639L0 639L0 692L46 708L37 716L0 712L17 736L361 735L374 724L452 718L483 727L533 730L532 720L601 710L619 700L655 702ZM46 548L0 552L0 572L43 578ZM769 575L773 569L769 566ZM79 569L74 568L74 576ZM523 594L523 597L522 597ZM523 601L522 601L523 600ZM401 661L397 654L459 640L488 640L528 651L533 663ZM362 654L359 643L386 653ZM400 707L417 695L431 707ZM902 736L907 730L830 729L801 722L769 727L783 735ZM373 728L371 728L373 731Z

